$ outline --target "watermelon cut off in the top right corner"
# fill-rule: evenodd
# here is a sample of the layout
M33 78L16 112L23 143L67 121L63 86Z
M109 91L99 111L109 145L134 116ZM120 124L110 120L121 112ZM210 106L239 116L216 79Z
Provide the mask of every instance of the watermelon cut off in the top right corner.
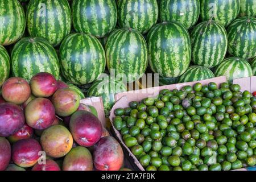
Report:
M256 16L256 1L240 0L240 16Z

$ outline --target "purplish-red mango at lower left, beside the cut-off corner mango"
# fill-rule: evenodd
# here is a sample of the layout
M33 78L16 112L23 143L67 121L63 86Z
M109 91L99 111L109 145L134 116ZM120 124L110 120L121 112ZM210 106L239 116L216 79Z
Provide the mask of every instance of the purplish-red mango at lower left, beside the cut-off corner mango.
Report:
M32 167L40 158L42 147L35 139L22 139L14 143L12 148L13 162L20 167Z

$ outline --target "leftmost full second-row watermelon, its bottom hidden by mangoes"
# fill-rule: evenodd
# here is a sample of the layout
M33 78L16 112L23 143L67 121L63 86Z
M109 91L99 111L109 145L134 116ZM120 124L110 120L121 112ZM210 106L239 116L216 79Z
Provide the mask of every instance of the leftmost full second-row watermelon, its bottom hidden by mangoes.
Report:
M58 80L60 64L55 49L43 38L23 38L11 52L13 75L27 81L39 72L51 73Z

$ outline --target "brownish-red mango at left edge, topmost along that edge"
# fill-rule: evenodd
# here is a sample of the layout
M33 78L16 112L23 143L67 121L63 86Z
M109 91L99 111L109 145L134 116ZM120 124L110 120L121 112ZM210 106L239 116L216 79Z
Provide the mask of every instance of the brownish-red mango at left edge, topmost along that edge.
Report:
M3 98L17 105L27 101L30 94L30 85L23 78L11 77L2 86Z

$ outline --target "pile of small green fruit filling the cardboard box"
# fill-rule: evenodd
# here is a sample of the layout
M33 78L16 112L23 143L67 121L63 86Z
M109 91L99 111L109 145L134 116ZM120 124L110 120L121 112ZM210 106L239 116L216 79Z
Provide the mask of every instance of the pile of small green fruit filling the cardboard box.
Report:
M228 171L256 164L256 97L210 82L161 90L114 111L113 124L150 170Z

